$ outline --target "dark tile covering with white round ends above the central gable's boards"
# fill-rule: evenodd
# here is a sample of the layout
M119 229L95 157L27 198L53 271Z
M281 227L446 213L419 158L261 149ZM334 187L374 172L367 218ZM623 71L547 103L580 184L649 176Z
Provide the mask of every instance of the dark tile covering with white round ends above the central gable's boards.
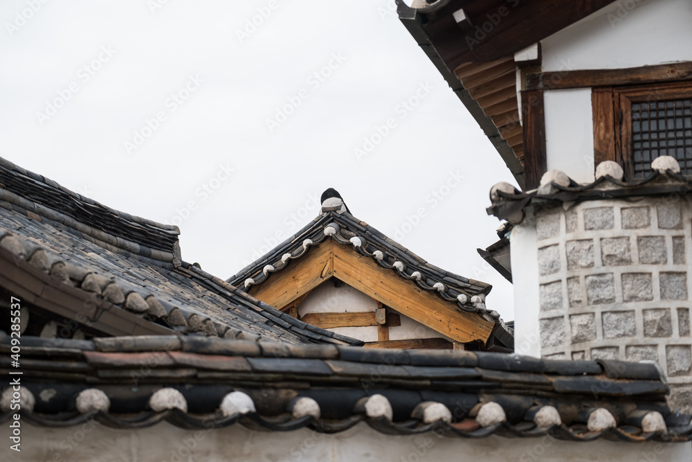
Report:
M492 285L431 265L340 208L323 207L322 213L311 223L226 281L245 289L262 284L272 274L289 267L292 260L306 255L311 247L333 239L339 244L352 246L354 252L372 258L379 266L391 269L392 274L410 281L420 289L437 294L464 311L478 312L488 320L500 323L500 314L487 310L484 303L485 295L491 291Z

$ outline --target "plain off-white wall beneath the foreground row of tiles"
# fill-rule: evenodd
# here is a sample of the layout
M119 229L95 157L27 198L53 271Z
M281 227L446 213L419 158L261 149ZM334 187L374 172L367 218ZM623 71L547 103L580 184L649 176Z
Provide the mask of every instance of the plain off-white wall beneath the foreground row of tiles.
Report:
M423 462L423 461L656 461L689 462L690 443L623 443L605 440L580 443L543 438L500 436L446 438L434 432L390 436L360 423L338 434L309 429L295 432L253 432L239 424L224 429L190 431L158 423L137 430L96 425L39 428L22 426L21 453L0 448L3 461L143 462Z

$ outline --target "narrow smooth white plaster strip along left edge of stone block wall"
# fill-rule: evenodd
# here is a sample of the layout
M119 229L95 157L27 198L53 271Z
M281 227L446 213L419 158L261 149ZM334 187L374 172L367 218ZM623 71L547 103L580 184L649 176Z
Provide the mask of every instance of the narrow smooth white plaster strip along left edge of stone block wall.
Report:
M536 219L531 208L510 236L514 287L514 350L518 355L540 357L538 327L538 247Z

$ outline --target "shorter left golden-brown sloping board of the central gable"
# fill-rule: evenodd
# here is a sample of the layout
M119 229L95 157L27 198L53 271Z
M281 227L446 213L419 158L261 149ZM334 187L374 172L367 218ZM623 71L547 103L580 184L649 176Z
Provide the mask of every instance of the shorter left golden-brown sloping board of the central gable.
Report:
M284 308L334 275L332 247L331 239L325 240L309 249L307 255L293 260L291 267L271 274L268 281L253 285L248 292L274 308Z

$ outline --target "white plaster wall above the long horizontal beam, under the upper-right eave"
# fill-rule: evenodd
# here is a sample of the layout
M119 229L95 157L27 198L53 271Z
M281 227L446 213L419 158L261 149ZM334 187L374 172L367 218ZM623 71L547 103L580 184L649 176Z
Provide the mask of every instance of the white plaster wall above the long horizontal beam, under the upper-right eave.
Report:
M689 0L619 0L543 39L543 71L692 61L691 24Z

